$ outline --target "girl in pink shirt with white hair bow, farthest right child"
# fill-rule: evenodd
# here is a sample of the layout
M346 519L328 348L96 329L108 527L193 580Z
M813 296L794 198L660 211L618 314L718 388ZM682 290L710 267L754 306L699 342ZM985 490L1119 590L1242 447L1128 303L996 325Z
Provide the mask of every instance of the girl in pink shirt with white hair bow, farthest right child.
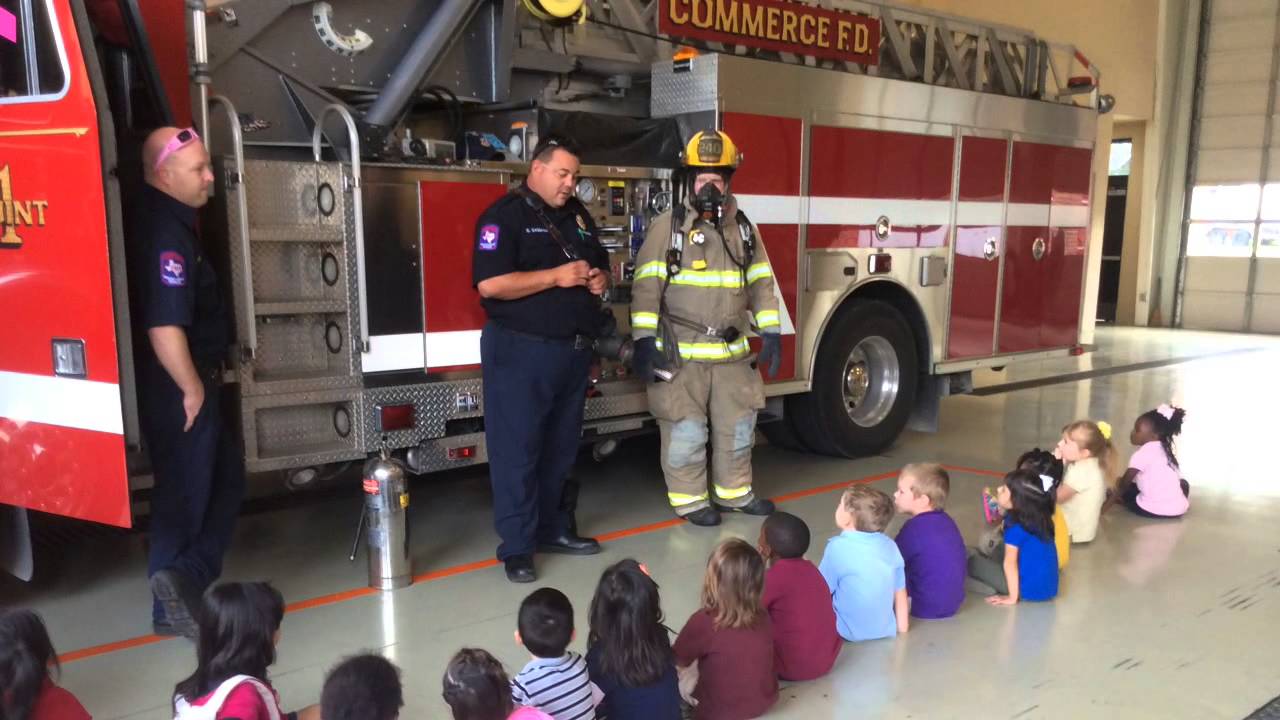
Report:
M1138 416L1129 442L1138 447L1116 488L1125 507L1143 518L1181 518L1190 507L1190 486L1181 478L1174 438L1187 411L1161 405Z

